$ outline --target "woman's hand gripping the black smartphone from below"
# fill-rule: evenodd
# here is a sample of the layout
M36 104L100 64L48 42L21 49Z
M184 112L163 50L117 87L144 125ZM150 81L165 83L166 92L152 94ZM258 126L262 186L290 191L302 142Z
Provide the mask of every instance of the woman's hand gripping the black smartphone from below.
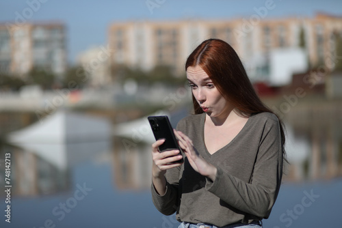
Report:
M154 178L163 178L166 173L166 170L172 169L174 167L179 167L181 163L174 163L177 160L181 160L183 156L177 155L179 154L178 149L168 150L166 152L159 152L159 145L163 144L165 139L159 139L155 143L152 144L152 158L153 158L153 167L152 167L152 175Z

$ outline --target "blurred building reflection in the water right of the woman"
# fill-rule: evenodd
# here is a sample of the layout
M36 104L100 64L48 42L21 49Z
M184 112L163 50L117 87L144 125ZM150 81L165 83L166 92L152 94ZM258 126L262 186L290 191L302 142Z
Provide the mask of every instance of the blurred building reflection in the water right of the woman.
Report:
M298 106L287 116L287 180L332 179L342 175L342 107L332 102Z

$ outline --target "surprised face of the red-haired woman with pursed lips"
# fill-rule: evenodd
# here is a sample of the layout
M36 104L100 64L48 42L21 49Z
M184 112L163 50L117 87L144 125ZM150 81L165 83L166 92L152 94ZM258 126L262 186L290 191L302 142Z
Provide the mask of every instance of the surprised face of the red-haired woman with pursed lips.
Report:
M192 94L200 107L210 117L226 117L231 111L231 105L220 94L208 74L200 66L187 68L187 81L192 87Z

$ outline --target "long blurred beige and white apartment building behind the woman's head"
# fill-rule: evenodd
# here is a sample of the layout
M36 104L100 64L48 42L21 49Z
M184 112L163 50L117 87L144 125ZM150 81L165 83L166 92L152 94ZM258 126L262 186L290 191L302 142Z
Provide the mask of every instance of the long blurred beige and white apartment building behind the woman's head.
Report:
M114 65L150 70L162 64L183 72L185 59L200 42L220 38L235 48L250 77L257 79L267 74L269 58L276 49L299 48L311 66L324 64L332 70L338 34L342 35L342 16L318 13L314 18L265 18L256 12L229 20L112 23L108 42L114 50Z

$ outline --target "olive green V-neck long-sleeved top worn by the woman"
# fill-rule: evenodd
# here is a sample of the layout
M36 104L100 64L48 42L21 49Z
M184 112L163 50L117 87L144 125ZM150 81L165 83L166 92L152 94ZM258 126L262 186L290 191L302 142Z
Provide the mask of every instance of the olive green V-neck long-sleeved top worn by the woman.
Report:
M177 130L194 143L200 156L218 169L214 182L200 175L185 158L166 172L166 193L152 198L159 212L176 212L180 222L218 227L268 218L282 179L282 144L278 118L259 113L227 145L209 154L204 142L205 113L181 119Z

